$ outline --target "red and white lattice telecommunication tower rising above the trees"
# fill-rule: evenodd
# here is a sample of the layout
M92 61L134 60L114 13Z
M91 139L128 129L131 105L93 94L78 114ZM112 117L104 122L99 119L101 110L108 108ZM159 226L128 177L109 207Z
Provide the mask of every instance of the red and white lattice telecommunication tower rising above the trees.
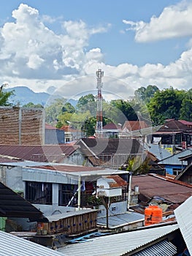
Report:
M101 69L96 71L96 80L97 80L97 108L96 108L96 135L101 138L101 133L103 129L103 113L102 113L102 94L101 88L103 83L101 82L101 78L104 76L104 72Z

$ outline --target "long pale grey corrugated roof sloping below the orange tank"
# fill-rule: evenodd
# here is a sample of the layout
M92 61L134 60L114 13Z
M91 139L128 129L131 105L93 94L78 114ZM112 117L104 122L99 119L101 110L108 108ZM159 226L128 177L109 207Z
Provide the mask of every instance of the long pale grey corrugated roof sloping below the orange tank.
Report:
M58 249L66 256L120 256L172 233L178 225L153 227L109 236L101 236L79 244L69 244Z

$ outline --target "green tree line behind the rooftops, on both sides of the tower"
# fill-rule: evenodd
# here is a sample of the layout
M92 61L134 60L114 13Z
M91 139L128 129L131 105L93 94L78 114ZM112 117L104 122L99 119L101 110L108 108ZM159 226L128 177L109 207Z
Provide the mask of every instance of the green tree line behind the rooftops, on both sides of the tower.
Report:
M14 91L0 90L0 105L11 105L9 97ZM23 105L28 108L43 108L33 102ZM74 129L82 129L86 135L93 135L96 126L97 97L87 94L72 105L67 99L55 99L45 107L46 122L61 128L70 125ZM134 91L131 99L112 99L107 102L103 99L103 125L110 122L124 124L126 120L136 121L143 118L152 125L164 124L169 118L192 121L192 89L179 90L169 87L160 90L157 86L149 85Z

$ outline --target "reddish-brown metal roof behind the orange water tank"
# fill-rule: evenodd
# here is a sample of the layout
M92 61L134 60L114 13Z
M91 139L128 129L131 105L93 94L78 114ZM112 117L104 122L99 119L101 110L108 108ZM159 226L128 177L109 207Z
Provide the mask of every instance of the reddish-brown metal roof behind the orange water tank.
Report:
M135 186L139 187L139 194L144 195L147 200L158 196L172 203L183 203L192 195L190 184L155 174L132 176L132 189Z

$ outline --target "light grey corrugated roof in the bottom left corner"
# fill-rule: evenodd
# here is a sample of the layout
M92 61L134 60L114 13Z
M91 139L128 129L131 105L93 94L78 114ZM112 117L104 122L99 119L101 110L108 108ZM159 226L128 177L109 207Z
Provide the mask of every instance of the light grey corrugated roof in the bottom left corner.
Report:
M59 256L53 249L0 231L0 256Z

